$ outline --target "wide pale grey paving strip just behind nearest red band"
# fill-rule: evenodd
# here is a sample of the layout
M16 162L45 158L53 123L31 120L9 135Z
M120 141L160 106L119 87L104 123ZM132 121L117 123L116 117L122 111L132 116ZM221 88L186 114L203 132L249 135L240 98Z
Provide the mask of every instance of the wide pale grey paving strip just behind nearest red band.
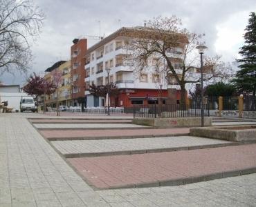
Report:
M202 137L179 136L136 139L51 141L51 144L53 144L53 146L63 155L66 155L66 157L68 157L68 154L84 154L84 157L86 157L86 154L94 154L96 156L104 152L109 152L110 155L115 154L114 152L127 152L126 154L131 154L132 152L139 150L144 150L145 152L150 152L151 150L151 152L157 152L158 150L160 152L161 150L185 149L196 146L198 148L203 148L203 146L213 147L215 145L228 145L233 144L233 142ZM125 153L119 154L123 155ZM107 155L107 153L104 153L104 155Z

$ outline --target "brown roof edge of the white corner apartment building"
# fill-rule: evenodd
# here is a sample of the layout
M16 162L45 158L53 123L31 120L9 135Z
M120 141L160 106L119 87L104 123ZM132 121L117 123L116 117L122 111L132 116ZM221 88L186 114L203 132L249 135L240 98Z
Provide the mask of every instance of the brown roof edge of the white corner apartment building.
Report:
M109 36L102 39L102 41L95 43L95 45L91 46L91 48L88 48L86 53L89 54L90 52L93 52L94 50L100 48L101 46L104 46L104 44L108 43L109 41L116 39L116 37L120 37L120 36L122 36L122 37L141 37L142 35L146 34L146 37L150 38L150 36L153 34L153 32L154 32L154 34L156 34L156 30L154 30L153 28L147 28L147 27L140 27L140 26L137 26L134 28L122 27L119 30L117 30L116 32L113 32ZM157 32L157 33L161 35L161 32ZM165 33L165 34L167 34L167 33ZM179 41L188 42L188 39L183 36L184 36L183 34L180 34Z

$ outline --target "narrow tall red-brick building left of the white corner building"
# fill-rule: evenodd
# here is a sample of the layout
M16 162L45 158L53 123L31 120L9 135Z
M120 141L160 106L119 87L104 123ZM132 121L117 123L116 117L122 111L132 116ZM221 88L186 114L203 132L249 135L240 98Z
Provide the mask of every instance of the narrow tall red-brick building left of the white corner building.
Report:
M71 46L71 98L73 106L78 106L78 98L84 97L86 85L84 83L87 50L87 39L74 39Z

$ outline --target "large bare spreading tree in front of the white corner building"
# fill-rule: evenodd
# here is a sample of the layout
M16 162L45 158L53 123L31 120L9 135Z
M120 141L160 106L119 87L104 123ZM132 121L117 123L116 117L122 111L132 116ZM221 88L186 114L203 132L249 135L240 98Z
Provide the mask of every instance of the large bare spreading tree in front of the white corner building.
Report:
M185 101L185 84L199 83L200 76L189 77L189 73L199 72L199 54L196 46L202 41L201 34L181 28L181 20L175 16L156 17L147 21L144 27L134 28L129 35L129 60L134 61L135 72L152 72L167 78L168 84L181 89L181 103ZM154 68L152 68L154 61ZM203 77L209 81L217 77L230 77L230 71L223 71L219 56L204 55Z

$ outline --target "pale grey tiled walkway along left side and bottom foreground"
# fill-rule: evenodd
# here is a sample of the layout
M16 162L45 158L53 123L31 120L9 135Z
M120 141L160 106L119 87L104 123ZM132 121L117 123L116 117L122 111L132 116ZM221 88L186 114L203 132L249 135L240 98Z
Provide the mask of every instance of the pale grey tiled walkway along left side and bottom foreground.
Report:
M0 114L1 207L256 206L256 174L214 179L212 181L202 181L182 186L94 190L92 186L84 181L80 173L75 172L66 163L65 159L53 149L51 144L26 119L26 117L41 118L43 116L32 113ZM48 115L44 117L47 118ZM52 117L54 119L60 119L60 117L55 117L54 115ZM103 118L106 119L106 117ZM61 118L68 118L68 116ZM113 119L116 118L113 117ZM126 130L123 133L120 130L119 135L125 134ZM95 132L97 136L100 135L97 134L98 131L100 130L91 130L91 133ZM66 131L62 132L62 134L66 134ZM114 135L116 135L116 132ZM149 132L149 135L152 135L152 132ZM82 132L81 136L84 136ZM91 135L89 136L91 137ZM229 148L233 147L241 146L232 146ZM203 150L213 149L217 148ZM185 153L192 151L194 150L179 152ZM247 149L241 155L244 154L244 156L253 157L255 156L254 152L255 148ZM153 156L154 154L162 153L168 154L172 152L151 153L147 155ZM240 156L240 153L238 154ZM219 160L224 158L231 159L227 154L216 153L214 156L216 156L214 161L217 160L217 157L219 157ZM237 157L239 156L237 155ZM109 157L96 158L109 159ZM205 160L207 157L205 155ZM235 156L235 159L237 157ZM87 159L96 158L91 157ZM148 161L145 160L146 163L149 163ZM241 165L243 163L253 164L241 160L239 161L240 163ZM237 164L233 164L232 166L235 167ZM185 172L187 171L185 170Z

